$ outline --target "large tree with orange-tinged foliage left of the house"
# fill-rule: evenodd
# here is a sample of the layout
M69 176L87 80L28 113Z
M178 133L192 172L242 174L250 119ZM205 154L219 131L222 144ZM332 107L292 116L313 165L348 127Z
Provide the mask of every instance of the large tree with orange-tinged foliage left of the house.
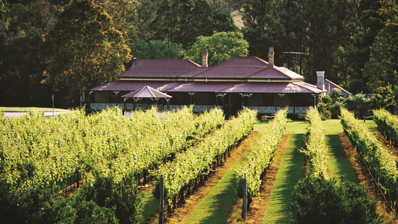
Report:
M41 58L47 64L43 82L55 91L79 89L80 106L89 86L112 81L131 56L111 17L90 0L72 0L44 36Z

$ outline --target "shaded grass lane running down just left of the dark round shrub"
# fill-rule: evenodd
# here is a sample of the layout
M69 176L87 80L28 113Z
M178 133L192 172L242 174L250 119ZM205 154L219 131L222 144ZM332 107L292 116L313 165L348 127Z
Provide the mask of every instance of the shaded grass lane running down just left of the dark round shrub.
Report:
M269 198L263 223L287 223L287 206L294 185L303 178L304 154L297 149L304 147L304 134L307 122L288 122L286 130L290 132L287 148L277 173L275 187Z

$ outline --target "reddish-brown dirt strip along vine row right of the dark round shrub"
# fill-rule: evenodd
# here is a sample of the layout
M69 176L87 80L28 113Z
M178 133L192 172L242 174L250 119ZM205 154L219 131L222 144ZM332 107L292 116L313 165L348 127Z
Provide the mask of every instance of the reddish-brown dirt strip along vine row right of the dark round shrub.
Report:
M368 190L368 196L377 201L378 213L382 216L383 223L396 223L394 218L395 214L393 212L389 212L384 202L383 195L380 193L376 183L369 174L369 170L363 164L355 149L352 148L348 137L343 132L339 132L338 135L359 183L364 184L365 188Z

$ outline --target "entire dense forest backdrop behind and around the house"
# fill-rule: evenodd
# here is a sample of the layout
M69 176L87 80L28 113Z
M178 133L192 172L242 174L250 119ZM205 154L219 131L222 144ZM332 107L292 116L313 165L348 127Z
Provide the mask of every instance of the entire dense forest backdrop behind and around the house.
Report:
M84 23L90 16L97 23ZM267 60L274 47L275 65L308 83L325 71L353 94L388 88L395 98L397 43L396 0L1 0L0 106L50 107L53 93L56 107L78 106L82 91L115 80L133 57L195 61L201 48L214 66L238 55ZM282 52L308 54L296 67ZM76 61L86 66L78 75Z

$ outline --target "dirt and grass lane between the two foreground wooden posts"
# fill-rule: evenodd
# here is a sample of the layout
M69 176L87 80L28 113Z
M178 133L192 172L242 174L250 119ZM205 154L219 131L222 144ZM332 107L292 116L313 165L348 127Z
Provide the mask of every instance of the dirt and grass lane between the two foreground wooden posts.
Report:
M249 149L252 141L258 136L257 131L252 131L250 135L239 147L231 152L231 157L226 159L223 166L218 167L216 172L209 176L207 182L199 187L193 195L185 199L185 204L176 209L172 216L168 218L168 223L220 223L218 220L222 219L222 216L228 216L228 199L235 199L234 190L232 191L228 188L232 187L230 185L230 179L226 180L225 176L228 172L232 171L232 166L242 160L244 154ZM224 182L220 184L221 182ZM226 190L227 188L227 190ZM226 195L227 197L225 197ZM211 196L211 199L205 197ZM210 205L209 203L213 206ZM222 203L226 206L219 206ZM206 211L203 212L203 209ZM222 211L220 211L220 209ZM225 211L224 211L225 210ZM216 217L217 216L217 217ZM197 219L206 221L196 221ZM225 217L226 219L226 217ZM224 220L225 220L224 219ZM155 223L156 219L152 219L150 223Z

